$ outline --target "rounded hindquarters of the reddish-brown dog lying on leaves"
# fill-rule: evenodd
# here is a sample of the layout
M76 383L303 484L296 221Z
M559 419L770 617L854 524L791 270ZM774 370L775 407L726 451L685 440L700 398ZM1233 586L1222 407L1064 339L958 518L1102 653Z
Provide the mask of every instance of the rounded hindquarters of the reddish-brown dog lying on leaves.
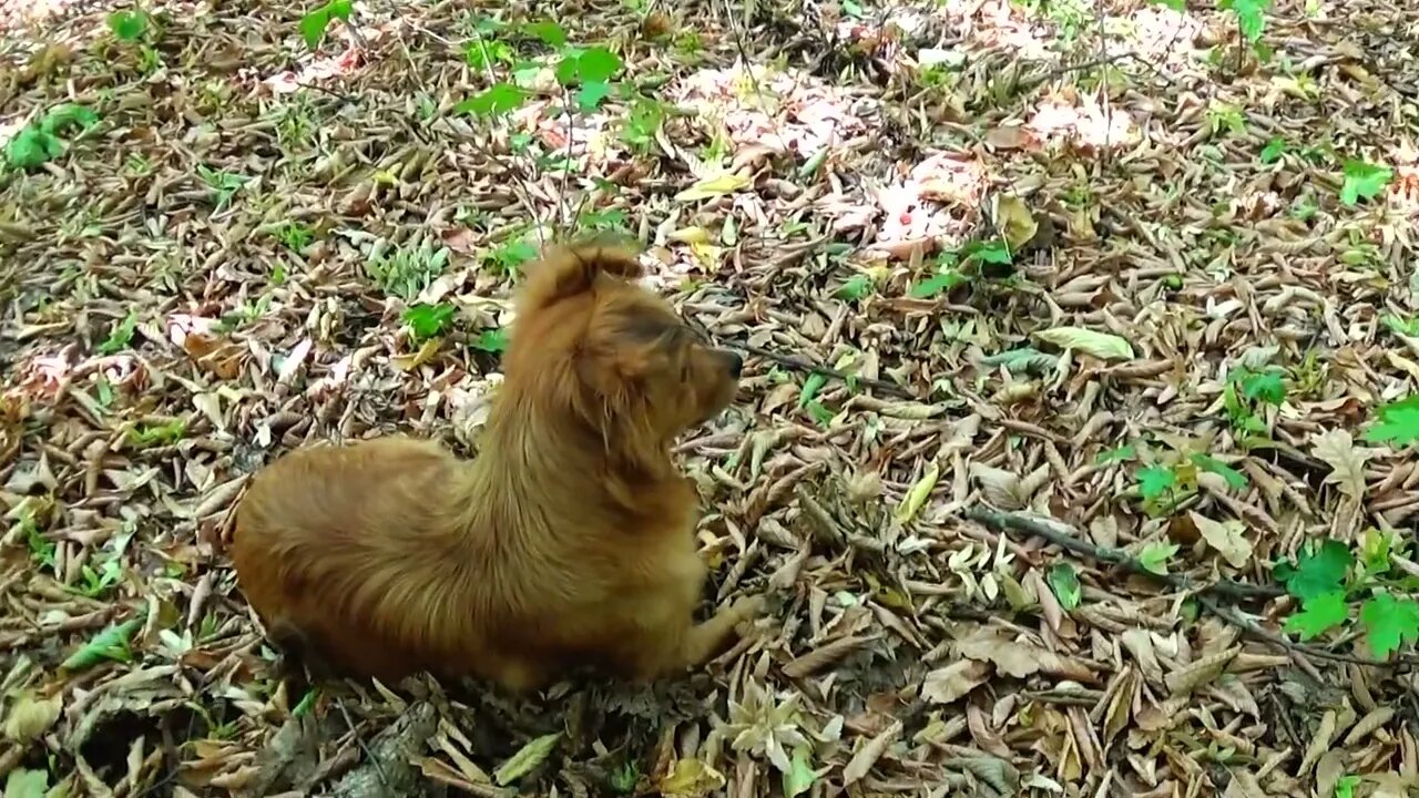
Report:
M231 558L272 636L372 676L410 670L380 643L437 630L423 596L450 557L467 564L447 551L464 541L444 534L457 523L444 497L461 476L438 446L400 437L297 450L261 471L237 510Z

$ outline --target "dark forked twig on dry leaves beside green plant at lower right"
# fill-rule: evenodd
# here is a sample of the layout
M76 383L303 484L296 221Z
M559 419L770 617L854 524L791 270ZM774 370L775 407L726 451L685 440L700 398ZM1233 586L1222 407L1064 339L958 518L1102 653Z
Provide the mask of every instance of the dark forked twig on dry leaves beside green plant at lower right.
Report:
M1155 574L1144 568L1142 562L1122 550L1108 548L1091 544L1077 535L1071 535L1059 527L1063 527L1060 521L1053 520L1036 520L1017 513L998 513L995 510L985 510L982 507L969 507L965 510L965 517L992 527L1000 531L1016 531L1030 534L1043 538L1051 544L1059 545L1074 554L1080 554L1090 559L1097 559L1101 562L1111 562L1120 565L1132 574L1139 574L1152 578L1158 582L1168 585L1169 588L1178 591L1193 592L1198 596L1198 603L1203 609L1216 615L1222 621L1236 626L1242 632L1252 635L1253 638L1280 646L1288 652L1313 656L1315 659L1324 659L1331 662L1345 662L1351 665L1366 665L1371 667L1399 667L1410 666L1419 662L1412 656L1396 656L1393 660L1382 662L1378 659L1366 659L1359 656L1342 655L1330 652L1317 646L1310 646L1305 643L1297 643L1294 640L1286 639L1283 635L1271 632L1263 628L1256 621L1242 615L1236 608L1225 606L1218 602L1218 596L1226 596L1230 599L1259 599L1259 598L1274 598L1283 595L1279 588L1269 588L1264 585L1247 585L1243 582L1233 582L1230 579L1223 579L1220 582L1198 582L1188 576L1178 574Z

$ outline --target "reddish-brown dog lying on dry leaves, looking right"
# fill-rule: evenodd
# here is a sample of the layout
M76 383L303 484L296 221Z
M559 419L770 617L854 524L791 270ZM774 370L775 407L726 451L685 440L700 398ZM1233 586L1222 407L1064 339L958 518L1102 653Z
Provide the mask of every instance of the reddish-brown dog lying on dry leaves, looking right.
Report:
M521 690L580 665L671 674L758 616L746 598L694 625L698 494L670 456L732 402L742 361L639 275L595 244L529 268L474 460L390 437L258 473L231 558L271 638L349 673Z

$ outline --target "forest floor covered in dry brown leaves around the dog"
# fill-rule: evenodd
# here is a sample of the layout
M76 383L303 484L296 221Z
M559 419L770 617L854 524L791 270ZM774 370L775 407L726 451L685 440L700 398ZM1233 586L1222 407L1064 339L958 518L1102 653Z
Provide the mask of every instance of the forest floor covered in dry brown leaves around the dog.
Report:
M1419 787L1419 11L301 6L0 1L7 798ZM244 480L474 456L566 229L749 352L681 453L775 612L646 690L277 680Z

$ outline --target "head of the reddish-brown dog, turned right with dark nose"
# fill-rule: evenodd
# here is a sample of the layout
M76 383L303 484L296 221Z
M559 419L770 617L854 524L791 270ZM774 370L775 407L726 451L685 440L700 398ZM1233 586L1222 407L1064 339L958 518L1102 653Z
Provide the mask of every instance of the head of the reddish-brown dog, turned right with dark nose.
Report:
M704 341L634 283L640 275L633 251L596 243L558 247L531 266L505 388L555 402L606 436L656 444L729 406L744 361Z

